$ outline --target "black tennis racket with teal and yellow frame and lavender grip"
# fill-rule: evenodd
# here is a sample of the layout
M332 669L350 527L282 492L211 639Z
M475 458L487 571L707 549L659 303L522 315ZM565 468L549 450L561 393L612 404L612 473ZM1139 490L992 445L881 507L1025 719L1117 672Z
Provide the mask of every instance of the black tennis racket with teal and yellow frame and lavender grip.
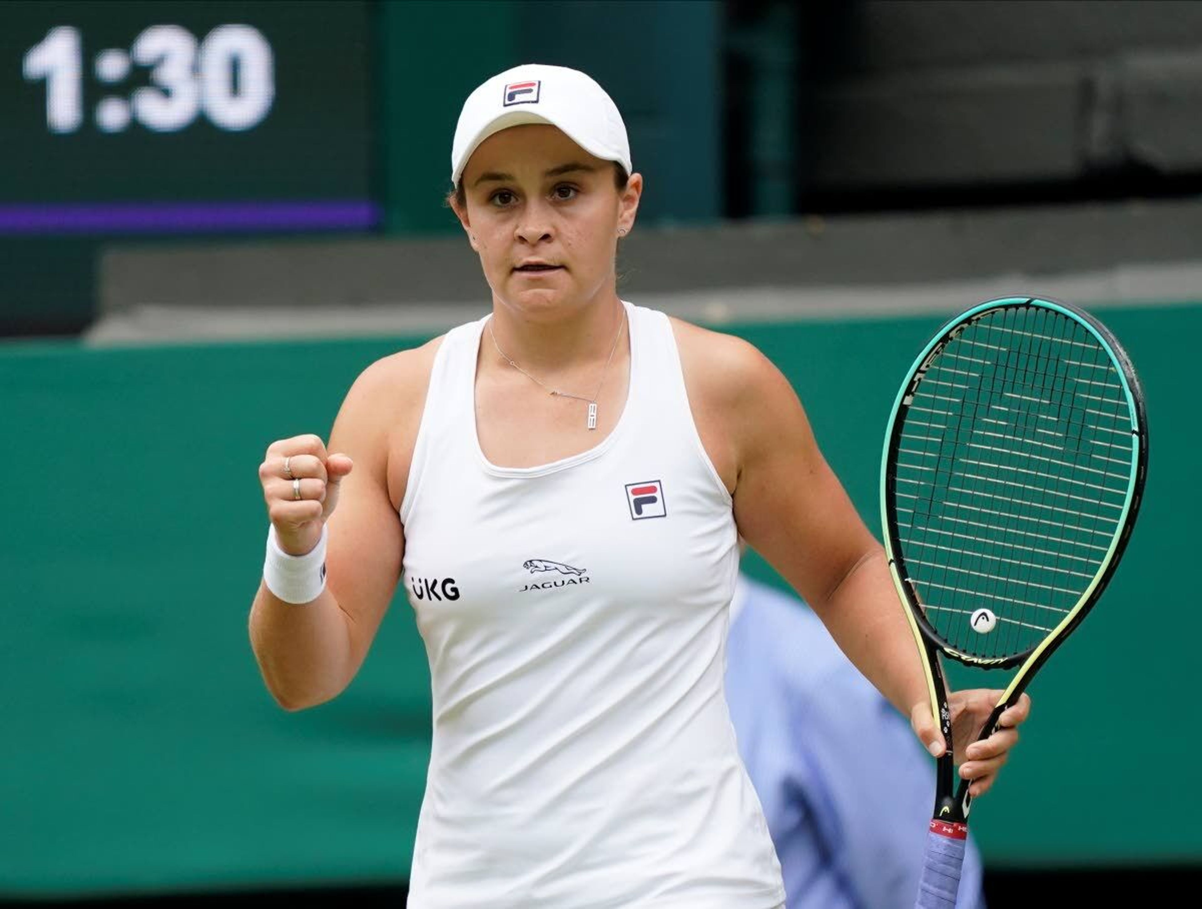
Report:
M917 909L956 904L971 803L966 781L953 789L941 658L1018 666L987 738L1101 596L1147 464L1126 352L1065 303L982 303L944 325L902 383L881 464L885 548L947 743Z

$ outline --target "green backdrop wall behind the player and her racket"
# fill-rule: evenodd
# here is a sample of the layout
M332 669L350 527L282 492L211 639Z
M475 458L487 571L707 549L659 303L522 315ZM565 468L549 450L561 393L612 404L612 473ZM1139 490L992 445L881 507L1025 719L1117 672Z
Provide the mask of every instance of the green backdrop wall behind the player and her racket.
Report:
M1102 604L1036 678L1024 741L974 811L994 867L1202 862L1189 783L1202 615L1184 570L1202 435L1182 384L1202 305L1101 315L1148 394L1147 498ZM940 322L728 329L793 382L877 532L885 419ZM263 688L246 612L263 449L327 433L364 366L422 340L0 347L0 895L407 875L429 742L407 604L347 692L299 713ZM1131 652L1155 662L1129 675Z

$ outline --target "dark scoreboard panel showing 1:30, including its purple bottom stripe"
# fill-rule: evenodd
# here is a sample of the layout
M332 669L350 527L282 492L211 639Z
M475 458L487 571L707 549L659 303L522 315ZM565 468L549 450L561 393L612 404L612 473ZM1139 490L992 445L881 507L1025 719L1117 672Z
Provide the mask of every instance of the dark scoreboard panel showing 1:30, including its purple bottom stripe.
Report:
M369 17L0 0L0 235L374 226Z

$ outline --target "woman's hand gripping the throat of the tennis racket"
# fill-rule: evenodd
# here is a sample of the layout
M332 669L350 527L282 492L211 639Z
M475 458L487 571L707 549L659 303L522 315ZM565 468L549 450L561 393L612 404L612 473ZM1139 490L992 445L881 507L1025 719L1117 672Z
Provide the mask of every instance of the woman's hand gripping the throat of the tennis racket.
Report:
M1018 726L1031 712L1031 699L1020 695L1014 706L1005 710L998 718L998 729L982 742L977 741L986 719L998 706L1002 692L990 688L971 688L952 692L948 706L952 711L952 738L954 741L953 760L959 765L959 775L972 781L969 794L975 799L989 791L998 771L1010 756L1010 749L1018 742ZM929 701L916 704L910 711L910 725L923 744L942 741L939 726L930 716ZM933 752L934 753L934 752ZM939 752L942 754L942 749ZM936 754L935 756L939 756Z

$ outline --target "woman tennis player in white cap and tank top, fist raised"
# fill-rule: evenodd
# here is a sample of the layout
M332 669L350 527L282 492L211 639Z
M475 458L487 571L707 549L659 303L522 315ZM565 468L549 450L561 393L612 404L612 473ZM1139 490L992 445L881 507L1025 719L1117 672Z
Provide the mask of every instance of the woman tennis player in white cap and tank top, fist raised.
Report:
M643 179L600 85L494 76L451 166L492 312L369 365L328 445L268 448L266 684L337 696L404 578L434 711L410 905L779 907L722 693L738 537L941 752L882 549L767 358L619 298ZM964 742L998 696L956 695ZM975 794L1028 710L962 755Z

